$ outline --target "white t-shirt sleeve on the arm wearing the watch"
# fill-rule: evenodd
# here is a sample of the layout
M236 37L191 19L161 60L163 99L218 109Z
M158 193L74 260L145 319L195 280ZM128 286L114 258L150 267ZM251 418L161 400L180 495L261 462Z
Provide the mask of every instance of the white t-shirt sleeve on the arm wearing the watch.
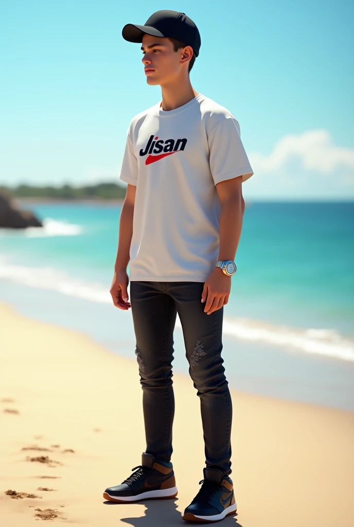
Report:
M208 139L210 170L215 185L242 175L242 182L253 174L244 150L240 125L234 118L227 118L212 131Z

